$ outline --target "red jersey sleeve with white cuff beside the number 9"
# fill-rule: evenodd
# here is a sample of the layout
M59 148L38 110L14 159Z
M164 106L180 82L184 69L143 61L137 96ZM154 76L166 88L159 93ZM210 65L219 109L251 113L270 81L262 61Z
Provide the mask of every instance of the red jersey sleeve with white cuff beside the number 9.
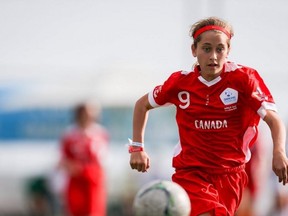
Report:
M173 73L162 85L156 86L148 93L148 100L152 107L171 105L179 76L181 76L180 72Z

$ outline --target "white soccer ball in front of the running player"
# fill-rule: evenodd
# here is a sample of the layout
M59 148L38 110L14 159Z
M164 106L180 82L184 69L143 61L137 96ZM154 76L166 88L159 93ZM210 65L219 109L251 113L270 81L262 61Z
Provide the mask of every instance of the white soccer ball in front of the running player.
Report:
M135 216L189 216L190 211L186 191L166 180L154 180L142 186L133 203Z

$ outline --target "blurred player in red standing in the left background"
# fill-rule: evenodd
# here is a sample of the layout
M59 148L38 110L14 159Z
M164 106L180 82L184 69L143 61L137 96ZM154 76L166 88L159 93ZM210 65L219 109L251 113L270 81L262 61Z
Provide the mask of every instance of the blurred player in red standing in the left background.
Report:
M106 184L102 166L108 146L108 132L99 123L99 109L89 103L76 106L75 124L61 139L61 162L67 173L65 192L67 214L105 216Z

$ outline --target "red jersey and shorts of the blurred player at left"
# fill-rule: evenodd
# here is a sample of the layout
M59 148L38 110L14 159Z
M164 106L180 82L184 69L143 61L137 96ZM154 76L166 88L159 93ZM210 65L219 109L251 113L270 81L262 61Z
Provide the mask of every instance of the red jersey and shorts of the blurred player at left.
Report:
M63 136L62 157L81 167L80 173L69 177L66 193L71 215L106 215L106 184L101 158L107 148L108 133L97 124L83 130L69 128Z

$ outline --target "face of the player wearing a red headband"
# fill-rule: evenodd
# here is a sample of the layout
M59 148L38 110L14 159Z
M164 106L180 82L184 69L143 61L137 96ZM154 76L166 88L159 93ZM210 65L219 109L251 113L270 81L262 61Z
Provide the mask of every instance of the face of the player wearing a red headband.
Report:
M229 54L227 35L218 31L202 33L197 47L192 45L192 54L197 57L203 78L213 80L221 73Z

